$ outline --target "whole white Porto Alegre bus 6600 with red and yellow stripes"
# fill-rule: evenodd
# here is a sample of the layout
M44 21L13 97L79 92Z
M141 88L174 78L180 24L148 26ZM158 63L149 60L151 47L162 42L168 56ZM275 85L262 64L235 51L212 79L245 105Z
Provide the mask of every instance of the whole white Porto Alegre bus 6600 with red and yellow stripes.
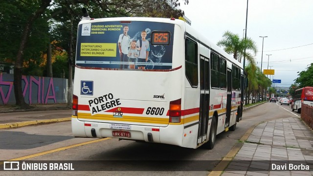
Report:
M75 62L74 136L212 149L242 118L242 64L181 20L87 17Z

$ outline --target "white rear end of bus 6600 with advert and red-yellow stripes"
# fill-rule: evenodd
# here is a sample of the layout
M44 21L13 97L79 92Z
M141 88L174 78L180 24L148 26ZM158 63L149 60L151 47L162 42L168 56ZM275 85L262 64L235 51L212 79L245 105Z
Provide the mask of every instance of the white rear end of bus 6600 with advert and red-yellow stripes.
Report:
M173 50L184 47L183 25L179 20L151 18L89 19L79 23L73 84L74 136L181 146L184 54L173 54ZM123 34L125 26L127 35ZM121 60L118 43L129 40L128 47L134 41L136 48L143 48L147 43L142 41L142 31L149 42L148 62Z

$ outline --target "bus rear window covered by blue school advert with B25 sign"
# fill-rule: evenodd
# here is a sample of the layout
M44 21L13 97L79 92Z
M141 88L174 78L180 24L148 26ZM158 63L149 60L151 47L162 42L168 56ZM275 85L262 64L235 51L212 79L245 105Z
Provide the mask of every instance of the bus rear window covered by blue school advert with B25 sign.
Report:
M83 23L78 27L75 64L109 69L172 69L173 36L171 23Z

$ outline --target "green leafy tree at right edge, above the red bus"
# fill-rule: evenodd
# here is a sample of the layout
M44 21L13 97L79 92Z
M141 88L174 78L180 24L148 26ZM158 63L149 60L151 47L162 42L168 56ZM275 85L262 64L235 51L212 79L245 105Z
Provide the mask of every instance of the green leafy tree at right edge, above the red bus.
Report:
M307 67L306 71L301 71L298 76L299 77L294 80L294 83L299 84L299 88L313 86L313 63L311 63L311 66Z

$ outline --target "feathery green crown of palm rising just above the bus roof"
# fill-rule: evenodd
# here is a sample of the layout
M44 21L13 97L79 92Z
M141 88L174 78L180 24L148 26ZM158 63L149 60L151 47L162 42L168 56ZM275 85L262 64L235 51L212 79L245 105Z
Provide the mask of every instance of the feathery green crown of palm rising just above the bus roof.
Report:
M226 31L223 35L223 39L217 43L218 46L224 46L224 50L228 54L233 54L234 58L241 62L245 46L247 50L251 50L254 55L258 52L255 42L251 38L240 39L238 34L234 34L230 31ZM246 53L246 60L255 65L255 60L250 53Z

